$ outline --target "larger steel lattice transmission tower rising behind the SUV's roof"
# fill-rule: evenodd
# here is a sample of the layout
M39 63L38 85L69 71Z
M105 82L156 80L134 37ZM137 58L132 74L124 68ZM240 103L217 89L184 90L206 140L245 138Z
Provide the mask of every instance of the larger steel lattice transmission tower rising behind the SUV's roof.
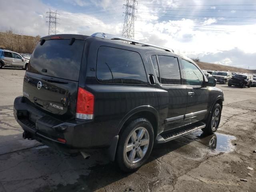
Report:
M134 39L134 21L136 17L134 16L135 5L138 5L137 0L126 0L126 5L124 4L125 8L125 17L124 17L124 27L122 36L129 39Z

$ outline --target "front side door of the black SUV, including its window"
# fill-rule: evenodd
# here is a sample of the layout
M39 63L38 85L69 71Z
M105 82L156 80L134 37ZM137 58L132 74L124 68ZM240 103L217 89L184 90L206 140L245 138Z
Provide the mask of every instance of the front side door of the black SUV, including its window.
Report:
M206 117L208 111L209 90L202 87L204 75L192 62L182 59L182 72L188 94L185 124L191 124Z

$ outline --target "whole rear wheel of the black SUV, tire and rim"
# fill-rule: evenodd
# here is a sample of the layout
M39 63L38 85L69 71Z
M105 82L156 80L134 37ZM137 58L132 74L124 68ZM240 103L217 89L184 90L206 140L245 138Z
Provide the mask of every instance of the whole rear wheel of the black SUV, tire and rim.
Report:
M124 172L138 170L150 156L154 144L154 130L146 118L137 118L121 131L116 162Z

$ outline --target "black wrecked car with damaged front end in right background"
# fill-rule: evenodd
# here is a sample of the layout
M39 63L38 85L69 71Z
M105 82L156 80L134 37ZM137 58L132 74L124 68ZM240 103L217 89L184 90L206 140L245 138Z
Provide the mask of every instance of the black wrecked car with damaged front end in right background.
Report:
M240 86L245 88L246 86L250 88L252 86L253 76L248 74L236 74L228 82L228 86Z

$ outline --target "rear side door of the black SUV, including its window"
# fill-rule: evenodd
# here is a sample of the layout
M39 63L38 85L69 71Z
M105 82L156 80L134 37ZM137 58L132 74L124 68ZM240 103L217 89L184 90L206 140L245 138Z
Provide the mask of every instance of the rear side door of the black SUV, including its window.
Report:
M164 54L150 55L147 58L152 61L156 75L159 114L160 118L164 117L163 131L179 128L184 124L187 90L181 85L178 58Z

